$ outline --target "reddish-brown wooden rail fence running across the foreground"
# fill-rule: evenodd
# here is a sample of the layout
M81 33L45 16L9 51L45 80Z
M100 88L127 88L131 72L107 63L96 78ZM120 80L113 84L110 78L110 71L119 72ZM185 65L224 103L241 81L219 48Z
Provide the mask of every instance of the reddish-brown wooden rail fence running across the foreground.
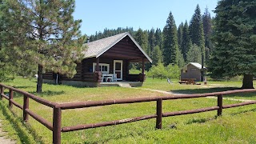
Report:
M9 100L9 107L12 108L13 106L17 106L19 109L23 110L23 121L28 121L28 116L30 115L32 118L37 120L38 122L42 123L42 125L46 126L49 130L53 131L53 143L60 144L61 143L61 133L62 132L69 132L74 130L84 130L90 129L95 127L102 127L102 126L112 126L118 125L122 123L128 122L136 122L150 118L156 118L156 128L162 129L162 117L170 117L175 115L182 115L182 114L194 114L194 113L201 113L210 110L217 110L217 115L222 114L222 109L236 107L236 106L245 106L250 104L255 104L256 101L251 102L242 102L236 103L231 105L222 105L222 98L225 94L235 94L235 93L245 93L245 92L256 92L256 90L230 90L230 91L223 91L223 92L216 92L216 93L206 93L206 94L186 94L186 95L175 95L175 96L162 96L162 97L146 97L146 98L127 98L127 99L117 99L117 100L106 100L106 101L90 101L90 102L68 102L68 103L56 103L46 101L45 99L39 98L34 94L27 93L22 90L15 89L10 86L6 86L0 83L1 89L1 99L6 98ZM4 89L9 90L9 95L4 94ZM23 106L19 105L17 102L14 102L14 92L23 95ZM165 100L172 100L172 99L182 99L182 98L203 98L203 97L210 97L210 96L217 96L217 106L206 107L196 110L182 110L182 111L175 111L175 112L166 112L162 113L162 101ZM45 106L50 106L54 109L53 113L53 123L46 121L46 119L42 118L40 115L35 114L33 111L29 109L29 100L33 99L35 102L41 103ZM106 106L106 105L115 105L115 104L126 104L126 103L136 103L136 102L156 102L156 114L145 115L141 117L135 118L126 118L122 120L114 120L110 122L100 122L100 123L92 123L92 124L84 124L78 126L66 126L62 127L62 110L67 109L78 109L78 108L85 108L85 107L92 107L92 106Z

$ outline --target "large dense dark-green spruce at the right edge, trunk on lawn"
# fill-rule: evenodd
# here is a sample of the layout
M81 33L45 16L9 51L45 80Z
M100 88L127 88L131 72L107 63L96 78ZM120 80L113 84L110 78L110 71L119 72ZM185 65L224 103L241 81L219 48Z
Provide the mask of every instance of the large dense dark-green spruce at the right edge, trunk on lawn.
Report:
M213 78L243 75L242 88L254 88L256 71L256 2L222 0L215 10Z

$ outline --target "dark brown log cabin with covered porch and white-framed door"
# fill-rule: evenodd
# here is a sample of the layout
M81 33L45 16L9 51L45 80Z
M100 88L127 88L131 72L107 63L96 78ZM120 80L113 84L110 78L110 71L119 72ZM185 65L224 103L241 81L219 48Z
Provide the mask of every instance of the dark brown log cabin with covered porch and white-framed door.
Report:
M150 57L129 33L117 34L86 43L84 59L77 63L74 78L46 72L43 82L71 86L142 86L145 81L145 62ZM132 62L142 63L140 74L129 74Z

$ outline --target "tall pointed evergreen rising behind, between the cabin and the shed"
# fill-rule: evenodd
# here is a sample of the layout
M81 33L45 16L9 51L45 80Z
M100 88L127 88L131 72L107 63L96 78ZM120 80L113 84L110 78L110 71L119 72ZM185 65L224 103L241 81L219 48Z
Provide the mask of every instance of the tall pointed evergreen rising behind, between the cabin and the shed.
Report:
M178 63L177 27L171 12L163 29L163 60L166 66Z

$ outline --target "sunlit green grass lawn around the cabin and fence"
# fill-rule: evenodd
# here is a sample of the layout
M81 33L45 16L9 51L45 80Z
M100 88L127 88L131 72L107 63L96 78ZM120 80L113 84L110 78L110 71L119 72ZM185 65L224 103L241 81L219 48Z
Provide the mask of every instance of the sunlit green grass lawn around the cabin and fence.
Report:
M8 86L34 93L36 82L16 78L14 82L5 82ZM147 78L143 89L165 90L174 93L192 94L212 91L234 90L242 86L241 82L208 82L208 85L180 85L177 81L168 84L165 79ZM121 87L78 88L73 86L43 85L43 93L39 96L52 102L81 102L118 98L157 97L164 94L140 89ZM256 94L233 94L229 98L256 99ZM14 100L22 104L22 97L14 94ZM224 105L237 103L224 100ZM0 102L2 112L6 113L8 102ZM192 110L208 106L216 106L214 98L193 98L163 102L163 112ZM155 114L156 102L143 102L115 106L98 106L86 109L62 110L62 126L75 126L92 122L104 122L116 119L131 118ZM217 111L200 114L188 114L162 119L162 130L155 130L155 119L132 122L118 126L106 126L90 130L78 130L62 133L62 143L255 143L256 106L241 106L223 110L222 117L216 117ZM30 100L30 110L52 122L52 110ZM26 124L29 130L23 130L21 124L22 111L13 109L17 114L4 114L16 118L19 123L17 137L22 143L51 143L52 133L42 124L30 118ZM10 112L9 112L10 113ZM1 116L1 115L0 115ZM8 120L8 118L7 118ZM11 120L11 118L9 118ZM19 121L19 122L18 122ZM15 127L17 124L11 124ZM16 126L17 127L17 126ZM9 130L7 130L9 131ZM24 132L23 132L24 131ZM24 134L22 134L24 133ZM23 138L22 135L29 135ZM31 138L32 136L33 138Z

